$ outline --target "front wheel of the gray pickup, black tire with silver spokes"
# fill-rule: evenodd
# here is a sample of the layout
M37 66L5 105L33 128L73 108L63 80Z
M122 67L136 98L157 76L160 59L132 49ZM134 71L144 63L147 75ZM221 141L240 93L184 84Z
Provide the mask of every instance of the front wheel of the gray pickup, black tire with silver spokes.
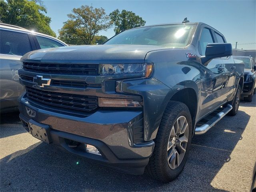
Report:
M192 120L188 107L182 102L168 103L155 147L146 170L156 180L170 182L182 172L192 138Z

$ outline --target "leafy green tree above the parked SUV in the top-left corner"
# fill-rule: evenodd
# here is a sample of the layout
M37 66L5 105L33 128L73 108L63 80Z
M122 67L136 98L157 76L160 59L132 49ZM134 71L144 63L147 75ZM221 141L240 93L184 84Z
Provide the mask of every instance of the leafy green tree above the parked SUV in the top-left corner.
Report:
M41 0L0 0L0 21L56 36Z

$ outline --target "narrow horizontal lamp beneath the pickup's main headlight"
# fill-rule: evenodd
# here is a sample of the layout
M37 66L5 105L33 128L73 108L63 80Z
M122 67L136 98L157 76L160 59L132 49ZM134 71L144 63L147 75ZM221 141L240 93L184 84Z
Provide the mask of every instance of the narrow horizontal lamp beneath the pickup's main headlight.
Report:
M141 107L139 101L116 98L98 98L98 105L100 107Z

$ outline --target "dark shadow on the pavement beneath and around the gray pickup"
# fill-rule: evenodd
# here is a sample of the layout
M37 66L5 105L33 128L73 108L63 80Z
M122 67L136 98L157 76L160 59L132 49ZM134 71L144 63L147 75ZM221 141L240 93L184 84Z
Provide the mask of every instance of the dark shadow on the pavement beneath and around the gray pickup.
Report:
M239 111L237 116L224 117L206 134L195 136L184 171L168 184L156 182L146 173L136 176L116 172L39 142L0 160L0 188L1 191L222 191L213 188L211 181L230 160L249 120L248 114Z

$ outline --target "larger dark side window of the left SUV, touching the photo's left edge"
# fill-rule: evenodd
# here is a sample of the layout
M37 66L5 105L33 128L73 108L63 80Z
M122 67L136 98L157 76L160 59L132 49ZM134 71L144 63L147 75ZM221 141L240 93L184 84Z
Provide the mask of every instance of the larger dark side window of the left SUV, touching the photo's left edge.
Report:
M0 30L0 54L22 56L32 51L28 34Z

